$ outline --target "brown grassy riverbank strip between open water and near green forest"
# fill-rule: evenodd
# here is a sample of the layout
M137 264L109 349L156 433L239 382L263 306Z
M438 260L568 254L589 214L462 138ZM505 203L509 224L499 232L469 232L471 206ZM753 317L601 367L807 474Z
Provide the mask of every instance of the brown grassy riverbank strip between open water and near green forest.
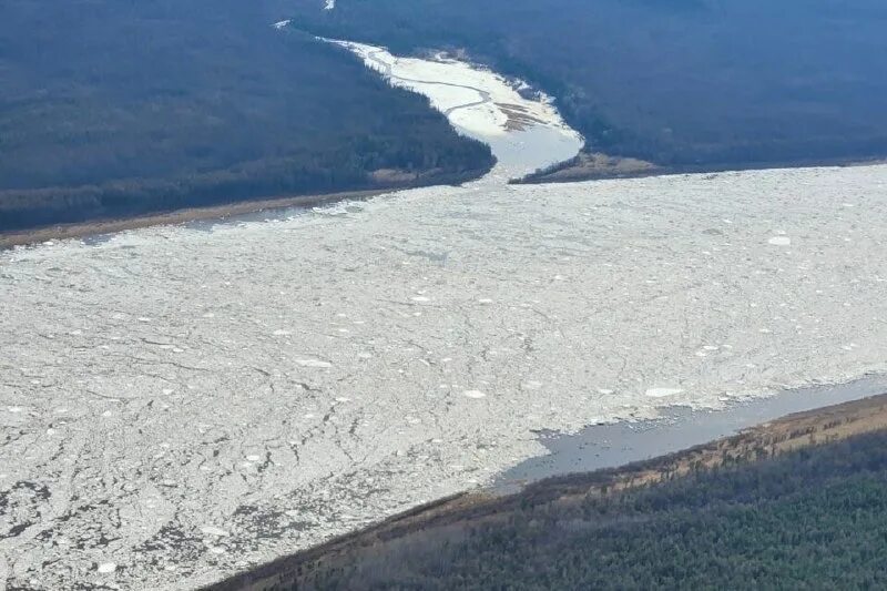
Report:
M387 519L357 533L343 536L290 557L269 562L214 585L207 591L255 591L310 588L315 572L332 572L366 557L389 552L394 561L409 554L397 548L416 541L462 540L469 531L509 522L528 507L551 509L575 506L588 499L672 481L724 466L753 463L765 458L834 444L887 429L887 394L788 415L676 454L615 469L575 473L533 483L509 496L486 492L457 495ZM435 543L435 542L432 542ZM386 563L383 560L383 563ZM388 563L390 565L390 563ZM376 572L375 574L378 574Z

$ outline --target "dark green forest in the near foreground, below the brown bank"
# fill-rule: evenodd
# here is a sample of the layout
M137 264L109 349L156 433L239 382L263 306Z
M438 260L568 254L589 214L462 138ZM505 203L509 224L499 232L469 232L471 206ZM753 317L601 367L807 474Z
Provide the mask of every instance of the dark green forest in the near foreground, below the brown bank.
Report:
M379 540L290 588L884 588L887 434L582 502L526 495L481 523Z

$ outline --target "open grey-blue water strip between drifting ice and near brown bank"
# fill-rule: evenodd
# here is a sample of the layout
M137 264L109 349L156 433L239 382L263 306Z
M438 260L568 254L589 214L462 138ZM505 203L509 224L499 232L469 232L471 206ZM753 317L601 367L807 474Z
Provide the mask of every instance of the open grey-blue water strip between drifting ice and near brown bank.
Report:
M794 412L848 403L887 393L887 376L869 376L842 386L789 390L769 398L736 403L724 410L676 406L654 420L587 427L577 435L543 434L549 455L531 458L503 472L493 489L571 472L614 468L680 451Z

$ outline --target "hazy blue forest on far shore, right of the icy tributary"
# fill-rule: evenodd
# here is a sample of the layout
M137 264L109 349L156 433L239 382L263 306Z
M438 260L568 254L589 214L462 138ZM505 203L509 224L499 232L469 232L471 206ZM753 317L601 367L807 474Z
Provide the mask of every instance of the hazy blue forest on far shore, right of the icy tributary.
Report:
M341 0L298 26L451 49L558 100L589 152L671 169L887 156L881 0Z

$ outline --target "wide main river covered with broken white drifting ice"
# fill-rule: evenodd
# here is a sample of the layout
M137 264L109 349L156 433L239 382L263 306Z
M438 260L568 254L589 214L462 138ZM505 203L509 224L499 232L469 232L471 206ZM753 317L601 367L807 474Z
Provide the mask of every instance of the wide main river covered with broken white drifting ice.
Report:
M190 589L539 430L887 370L887 166L504 175L0 253L0 588Z

